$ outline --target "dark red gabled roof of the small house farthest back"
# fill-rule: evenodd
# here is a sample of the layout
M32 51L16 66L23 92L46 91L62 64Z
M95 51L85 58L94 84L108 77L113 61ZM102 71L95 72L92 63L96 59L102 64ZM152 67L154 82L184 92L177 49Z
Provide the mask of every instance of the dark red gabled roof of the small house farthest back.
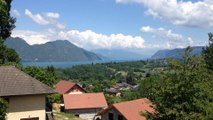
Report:
M55 91L60 93L60 94L66 94L68 93L74 86L77 86L79 89L82 91L86 92L83 88L81 88L78 84L70 82L70 81L65 81L61 80L56 84Z

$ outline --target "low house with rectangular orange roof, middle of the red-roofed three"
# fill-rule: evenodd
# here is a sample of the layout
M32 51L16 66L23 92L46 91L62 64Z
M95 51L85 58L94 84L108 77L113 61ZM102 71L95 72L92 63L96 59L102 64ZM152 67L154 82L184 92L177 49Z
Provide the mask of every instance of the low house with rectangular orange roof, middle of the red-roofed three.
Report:
M95 115L107 108L103 93L64 94L66 113L72 113L83 119L94 119Z

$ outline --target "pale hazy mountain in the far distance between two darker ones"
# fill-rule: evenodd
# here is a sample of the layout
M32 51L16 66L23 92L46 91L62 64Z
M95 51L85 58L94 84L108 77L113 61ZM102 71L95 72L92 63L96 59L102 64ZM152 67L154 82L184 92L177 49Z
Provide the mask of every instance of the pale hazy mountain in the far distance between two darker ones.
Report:
M141 60L147 58L143 54L123 49L96 49L93 52L110 60Z

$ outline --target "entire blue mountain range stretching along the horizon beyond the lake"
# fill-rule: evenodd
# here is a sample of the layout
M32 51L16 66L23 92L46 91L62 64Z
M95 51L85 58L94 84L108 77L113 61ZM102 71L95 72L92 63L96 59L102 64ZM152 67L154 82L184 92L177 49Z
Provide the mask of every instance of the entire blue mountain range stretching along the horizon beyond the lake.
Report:
M24 62L70 62L99 60L142 60L150 58L146 50L131 51L124 49L95 49L87 51L67 40L56 40L45 44L29 45L24 39L8 38L6 45L17 51ZM193 55L201 55L204 46L192 47ZM144 54L146 53L146 54ZM181 58L184 48L159 50L151 59Z

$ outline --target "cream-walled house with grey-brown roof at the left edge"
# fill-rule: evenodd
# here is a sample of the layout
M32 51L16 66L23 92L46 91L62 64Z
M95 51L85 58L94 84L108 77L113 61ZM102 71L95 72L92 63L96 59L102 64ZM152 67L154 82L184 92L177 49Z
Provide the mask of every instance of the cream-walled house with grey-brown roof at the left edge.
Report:
M9 103L7 120L45 120L50 87L13 66L0 66L0 97Z

